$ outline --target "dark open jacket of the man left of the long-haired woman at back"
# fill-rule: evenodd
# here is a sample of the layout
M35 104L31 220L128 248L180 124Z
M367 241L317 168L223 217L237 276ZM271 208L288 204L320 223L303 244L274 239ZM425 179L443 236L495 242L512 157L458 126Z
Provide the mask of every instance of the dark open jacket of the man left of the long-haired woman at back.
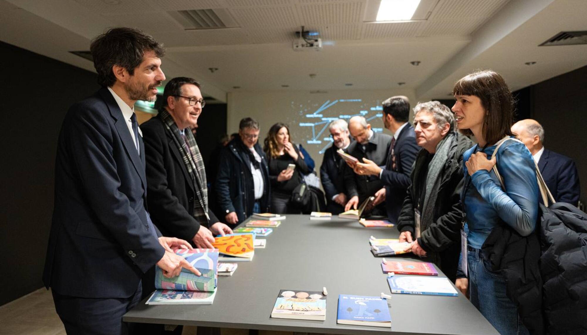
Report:
M255 151L261 156L261 174L263 175L263 196L261 197L261 212L269 211L269 170L267 158L259 143L256 143ZM248 150L248 148L246 149ZM241 138L236 137L220 152L218 175L215 184L216 197L220 213L226 215L237 213L238 222L241 223L252 215L255 205L255 189L251 174L251 159L245 152Z

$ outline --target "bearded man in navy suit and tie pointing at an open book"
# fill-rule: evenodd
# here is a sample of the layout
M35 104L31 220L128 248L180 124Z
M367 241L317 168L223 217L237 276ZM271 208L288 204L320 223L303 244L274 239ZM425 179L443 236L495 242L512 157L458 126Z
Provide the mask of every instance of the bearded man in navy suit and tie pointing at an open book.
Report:
M103 87L63 120L55 165L55 206L43 282L68 334L127 334L122 316L157 264L168 278L199 272L160 237L146 210L144 145L133 106L154 101L165 80L163 47L136 29L114 28L90 46Z

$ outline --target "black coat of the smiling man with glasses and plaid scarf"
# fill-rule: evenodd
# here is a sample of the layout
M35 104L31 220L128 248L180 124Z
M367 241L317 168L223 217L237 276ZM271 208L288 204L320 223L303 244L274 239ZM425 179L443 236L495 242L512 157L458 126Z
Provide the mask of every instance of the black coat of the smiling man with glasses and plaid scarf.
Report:
M200 230L193 217L198 201L179 148L160 117L141 125L147 156L147 203L153 223L164 236L191 241ZM208 206L210 224L218 222ZM207 223L204 223L207 225Z

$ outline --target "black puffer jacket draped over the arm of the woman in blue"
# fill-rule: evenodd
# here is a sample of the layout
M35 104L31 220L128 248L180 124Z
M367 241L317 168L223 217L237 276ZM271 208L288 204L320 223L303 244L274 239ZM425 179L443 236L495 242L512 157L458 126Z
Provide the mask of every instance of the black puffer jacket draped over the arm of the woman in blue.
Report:
M534 234L503 224L482 249L531 334L587 334L587 214L566 203L540 212Z

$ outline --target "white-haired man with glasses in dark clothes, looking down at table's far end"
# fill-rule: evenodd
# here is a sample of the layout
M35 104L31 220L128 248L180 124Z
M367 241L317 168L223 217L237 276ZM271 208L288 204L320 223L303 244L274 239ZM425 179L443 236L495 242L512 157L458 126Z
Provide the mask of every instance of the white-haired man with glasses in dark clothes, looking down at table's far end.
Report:
M320 166L320 179L326 193L326 211L340 214L344 211L348 200L344 179L346 164L336 151L345 150L350 145L349 127L345 120L338 119L332 121L328 129L332 136L332 146L324 152L324 159Z

